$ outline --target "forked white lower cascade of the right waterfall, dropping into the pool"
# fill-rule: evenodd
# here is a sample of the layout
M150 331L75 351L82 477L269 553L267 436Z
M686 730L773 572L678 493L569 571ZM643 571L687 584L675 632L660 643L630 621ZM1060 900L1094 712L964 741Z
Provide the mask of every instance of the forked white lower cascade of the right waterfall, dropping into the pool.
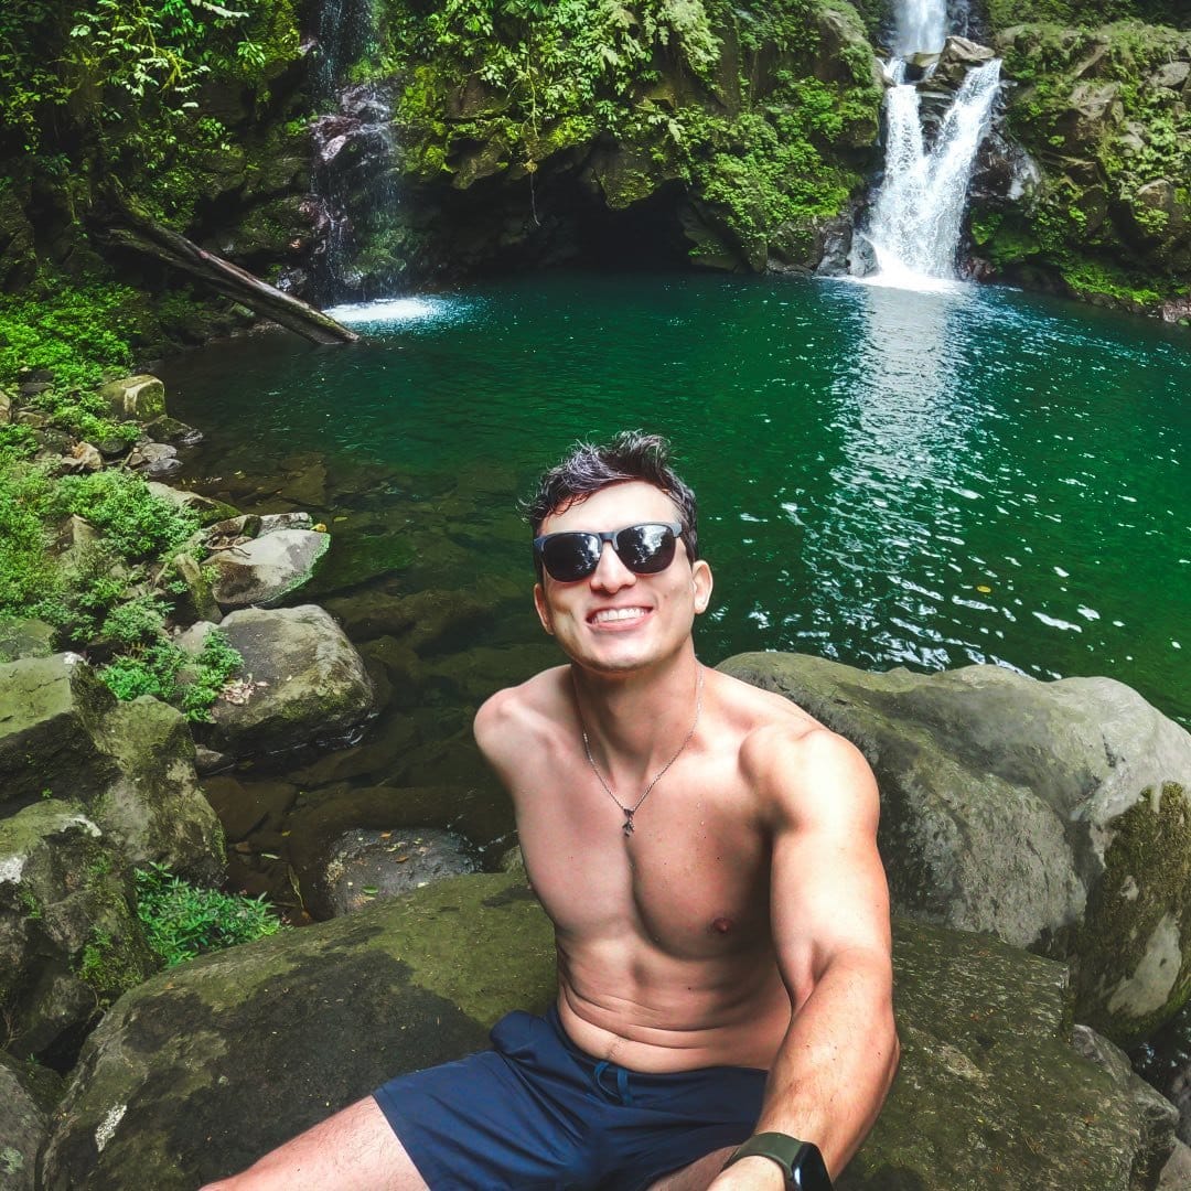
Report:
M969 70L930 149L917 88L912 83L890 88L885 181L865 233L878 274L955 276L968 179L999 82L997 58Z

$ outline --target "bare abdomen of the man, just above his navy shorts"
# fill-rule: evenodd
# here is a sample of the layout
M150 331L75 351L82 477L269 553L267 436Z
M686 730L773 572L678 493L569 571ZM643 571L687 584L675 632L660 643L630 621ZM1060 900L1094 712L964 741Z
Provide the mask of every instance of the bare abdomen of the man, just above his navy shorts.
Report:
M557 948L559 1017L587 1054L654 1074L773 1065L790 997L772 953L686 960L642 939L572 947L561 933Z

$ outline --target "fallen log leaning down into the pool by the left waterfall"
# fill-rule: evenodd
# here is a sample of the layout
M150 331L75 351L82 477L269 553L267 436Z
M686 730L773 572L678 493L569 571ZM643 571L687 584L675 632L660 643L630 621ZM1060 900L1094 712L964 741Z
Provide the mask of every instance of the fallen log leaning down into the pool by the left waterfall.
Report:
M205 281L218 293L242 303L262 318L268 318L313 343L357 343L360 336L310 303L282 293L275 286L242 269L238 264L199 248L192 239L174 231L123 197L110 193L114 216L100 230L102 239L114 248L151 256L175 269Z

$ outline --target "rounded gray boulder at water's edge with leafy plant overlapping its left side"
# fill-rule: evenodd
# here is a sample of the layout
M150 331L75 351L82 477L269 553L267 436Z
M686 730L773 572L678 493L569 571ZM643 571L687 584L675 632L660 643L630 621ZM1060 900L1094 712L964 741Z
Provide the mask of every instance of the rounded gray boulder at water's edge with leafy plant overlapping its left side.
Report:
M270 535L278 537L280 535ZM219 628L244 659L244 699L220 699L206 743L232 756L342 741L372 713L363 660L313 604L243 609Z

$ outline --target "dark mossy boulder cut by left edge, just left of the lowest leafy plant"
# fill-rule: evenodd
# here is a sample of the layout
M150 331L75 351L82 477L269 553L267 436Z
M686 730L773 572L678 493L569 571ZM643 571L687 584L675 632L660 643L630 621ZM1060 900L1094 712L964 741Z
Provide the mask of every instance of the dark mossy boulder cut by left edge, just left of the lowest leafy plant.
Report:
M156 969L131 874L100 829L50 799L0 819L5 1045L68 1067L98 1014Z

